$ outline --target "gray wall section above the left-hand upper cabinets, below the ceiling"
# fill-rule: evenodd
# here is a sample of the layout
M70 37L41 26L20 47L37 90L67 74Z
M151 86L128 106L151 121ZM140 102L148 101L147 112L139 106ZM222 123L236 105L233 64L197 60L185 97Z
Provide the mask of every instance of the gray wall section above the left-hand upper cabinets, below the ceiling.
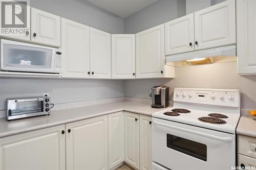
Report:
M30 0L30 6L108 33L124 33L122 18L84 0Z

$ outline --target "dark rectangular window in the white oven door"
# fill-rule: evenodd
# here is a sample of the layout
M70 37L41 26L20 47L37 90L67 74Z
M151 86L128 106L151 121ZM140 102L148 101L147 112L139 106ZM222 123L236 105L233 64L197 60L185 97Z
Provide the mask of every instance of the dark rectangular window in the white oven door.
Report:
M203 143L167 134L167 147L203 161L207 160L207 146Z

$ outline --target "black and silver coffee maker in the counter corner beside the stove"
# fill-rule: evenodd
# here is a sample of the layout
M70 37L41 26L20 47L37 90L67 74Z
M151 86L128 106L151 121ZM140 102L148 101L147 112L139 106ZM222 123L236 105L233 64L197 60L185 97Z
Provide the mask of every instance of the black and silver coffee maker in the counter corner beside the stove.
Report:
M153 108L165 108L169 106L169 87L154 86L151 88Z

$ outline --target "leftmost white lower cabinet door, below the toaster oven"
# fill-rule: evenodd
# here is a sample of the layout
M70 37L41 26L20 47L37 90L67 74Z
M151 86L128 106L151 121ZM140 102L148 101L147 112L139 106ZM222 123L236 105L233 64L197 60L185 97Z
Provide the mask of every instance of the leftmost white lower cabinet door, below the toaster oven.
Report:
M0 138L0 169L66 169L65 125Z

